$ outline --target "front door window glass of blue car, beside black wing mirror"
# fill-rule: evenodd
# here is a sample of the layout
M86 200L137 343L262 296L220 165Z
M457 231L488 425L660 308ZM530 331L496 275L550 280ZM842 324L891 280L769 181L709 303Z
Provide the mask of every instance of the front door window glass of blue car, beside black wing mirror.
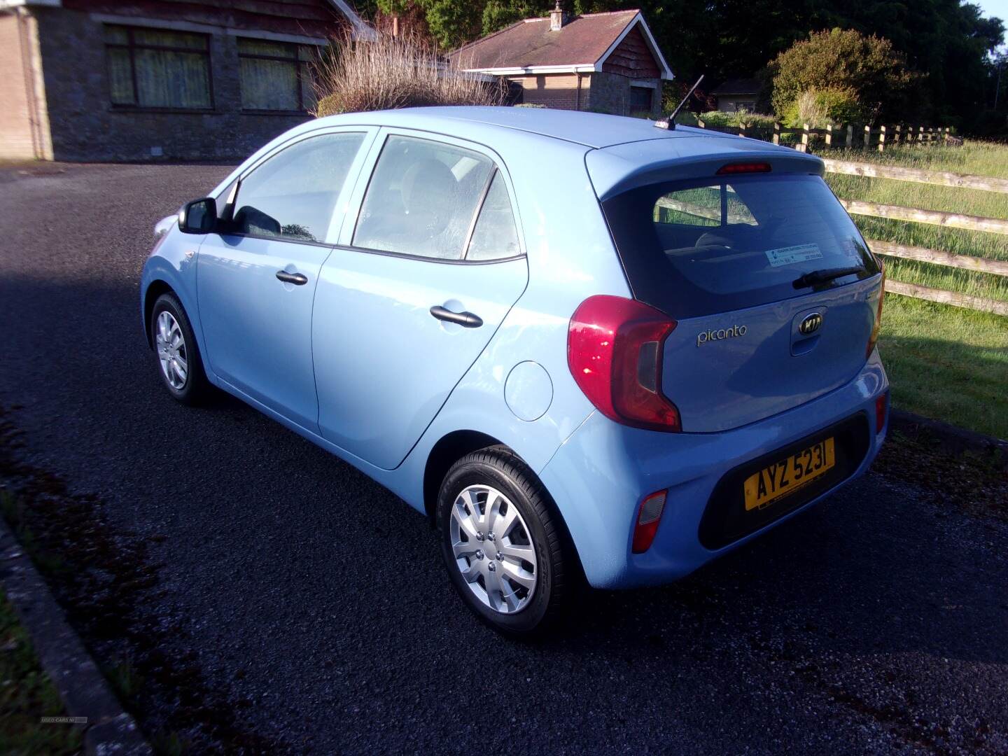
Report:
M242 178L235 231L299 242L324 242L361 133L323 134L295 142Z

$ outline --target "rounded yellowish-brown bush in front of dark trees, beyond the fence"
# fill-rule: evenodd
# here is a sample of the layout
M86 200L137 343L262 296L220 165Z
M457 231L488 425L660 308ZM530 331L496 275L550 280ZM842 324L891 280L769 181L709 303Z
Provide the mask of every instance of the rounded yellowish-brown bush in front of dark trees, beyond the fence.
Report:
M920 78L888 39L853 29L812 33L777 55L769 71L778 115L792 111L802 93L829 92L838 101L857 103L872 120L901 118Z

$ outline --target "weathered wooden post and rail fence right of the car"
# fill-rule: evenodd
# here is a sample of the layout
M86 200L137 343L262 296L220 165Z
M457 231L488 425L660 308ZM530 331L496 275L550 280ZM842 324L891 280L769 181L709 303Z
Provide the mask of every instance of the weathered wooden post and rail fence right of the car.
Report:
M703 121L700 123L704 127ZM746 136L745 128L727 129L720 127L719 131L738 133ZM780 136L783 133L799 133L801 141L794 146L800 151L807 151L811 145L813 134L824 134L824 146L847 146L853 145L854 129L848 126L842 131L836 131L832 127L826 129L809 129L807 125L804 129L784 129L780 124L774 124L773 139L775 144L780 143ZM919 127L917 130L903 131L900 127L893 127L891 131L884 126L878 130L865 127L863 144L860 146L871 148L872 134L878 134L876 141L877 149L882 151L887 144L893 143L923 143L933 144L940 140L943 143L951 143L949 129L927 129ZM889 139L892 134L891 140ZM912 135L912 136L911 136ZM842 142L838 142L838 136ZM914 183L929 183L939 186L955 186L981 192L995 192L1008 195L1008 179L994 178L990 176L965 175L940 170L920 170L917 168L904 168L896 165L879 165L861 162L847 162L826 158L826 170L830 173L846 173L849 175L862 175L871 178L889 178L897 181L911 181ZM990 234L1001 234L1008 236L1008 220L1000 218L981 218L979 216L964 215L961 213L943 213L934 210L918 210L915 208L902 208L896 205L879 205L877 203L861 202L857 200L841 200L841 204L851 215L871 216L874 218L889 218L899 221L910 221L913 223L925 223L935 226L943 226L953 229L966 229L968 231L984 231ZM957 255L939 249L927 249L924 247L913 247L906 244L896 244L879 239L867 240L873 251L880 255L889 257L899 257L905 260L916 260L934 265L944 265L959 268L961 270L973 270L981 273L1008 276L1008 260L994 260L985 257L971 257L969 255ZM978 309L985 312L994 312L999 316L1008 317L1008 301L989 299L981 296L972 296L958 291L947 291L944 289L920 286L915 283L904 283L894 281L891 278L886 280L886 291L904 296L913 296L918 299L952 304L957 307L968 309Z

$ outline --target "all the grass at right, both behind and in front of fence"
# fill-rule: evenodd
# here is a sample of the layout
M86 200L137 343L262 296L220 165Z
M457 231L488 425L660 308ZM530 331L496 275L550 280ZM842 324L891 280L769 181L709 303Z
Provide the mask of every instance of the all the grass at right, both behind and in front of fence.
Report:
M830 157L1008 178L1008 146L903 147L882 154L835 151ZM1008 195L889 178L828 173L838 197L904 208L1008 219ZM867 239L1008 260L1008 236L922 223L853 216ZM891 280L1008 301L1008 277L886 257ZM886 296L879 349L893 405L954 425L1008 438L1008 318L898 294Z

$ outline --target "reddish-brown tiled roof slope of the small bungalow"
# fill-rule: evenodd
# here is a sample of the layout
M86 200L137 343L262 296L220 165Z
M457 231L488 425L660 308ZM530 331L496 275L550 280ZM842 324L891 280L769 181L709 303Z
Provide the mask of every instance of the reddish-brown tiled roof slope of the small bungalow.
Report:
M549 18L528 18L460 47L450 58L463 69L479 70L591 66L605 54L638 12L575 16L559 31L549 30Z

